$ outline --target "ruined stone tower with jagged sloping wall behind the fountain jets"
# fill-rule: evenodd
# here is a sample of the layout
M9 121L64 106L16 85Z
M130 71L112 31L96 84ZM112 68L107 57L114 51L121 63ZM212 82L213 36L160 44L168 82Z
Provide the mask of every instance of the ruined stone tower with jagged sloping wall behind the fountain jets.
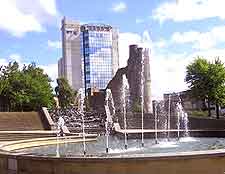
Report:
M144 112L152 113L149 50L143 50L143 48L139 48L138 45L130 45L127 66L120 68L109 82L107 88L112 91L117 113L123 110L123 101L121 99L123 75L126 75L129 83L129 107L131 109L137 108L137 106L138 108L141 107L143 90Z

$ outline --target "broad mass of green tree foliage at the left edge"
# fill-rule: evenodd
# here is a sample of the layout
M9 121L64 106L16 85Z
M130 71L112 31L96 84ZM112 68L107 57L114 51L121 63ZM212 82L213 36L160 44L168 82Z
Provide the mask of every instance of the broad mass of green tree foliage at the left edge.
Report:
M17 62L0 68L0 96L9 111L32 111L51 107L53 94L50 78L34 63L19 69Z

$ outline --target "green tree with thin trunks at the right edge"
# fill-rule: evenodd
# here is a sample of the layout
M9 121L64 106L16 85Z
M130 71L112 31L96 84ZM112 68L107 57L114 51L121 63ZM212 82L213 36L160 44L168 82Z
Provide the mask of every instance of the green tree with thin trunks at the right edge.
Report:
M187 66L185 81L189 84L194 98L208 101L208 115L211 116L210 104L216 104L216 114L219 118L219 105L225 99L225 68L219 58L209 62L198 57Z

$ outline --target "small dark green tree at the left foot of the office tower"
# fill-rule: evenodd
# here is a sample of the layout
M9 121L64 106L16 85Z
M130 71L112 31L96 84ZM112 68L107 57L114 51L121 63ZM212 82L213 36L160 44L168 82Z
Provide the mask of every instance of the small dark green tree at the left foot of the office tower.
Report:
M73 91L65 78L58 78L57 84L55 93L59 100L59 106L66 108L74 103L76 91Z

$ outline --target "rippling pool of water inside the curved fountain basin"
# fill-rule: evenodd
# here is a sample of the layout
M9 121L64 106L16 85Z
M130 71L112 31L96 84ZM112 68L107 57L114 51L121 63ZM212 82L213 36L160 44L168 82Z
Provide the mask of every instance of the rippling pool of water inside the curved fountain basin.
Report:
M86 143L86 152L88 156L138 156L149 155L154 153L169 153L169 152L189 152L225 149L225 138L180 138L178 141L175 138L159 139L158 144L155 139L145 139L144 147L141 147L141 140L128 140L128 149L124 148L124 140L118 137L109 137L109 153L106 154L106 139L104 136L97 138L97 141ZM37 156L58 156L58 157L73 157L83 156L83 143L64 143L55 145L46 145L32 147L26 149L15 150L29 155Z

